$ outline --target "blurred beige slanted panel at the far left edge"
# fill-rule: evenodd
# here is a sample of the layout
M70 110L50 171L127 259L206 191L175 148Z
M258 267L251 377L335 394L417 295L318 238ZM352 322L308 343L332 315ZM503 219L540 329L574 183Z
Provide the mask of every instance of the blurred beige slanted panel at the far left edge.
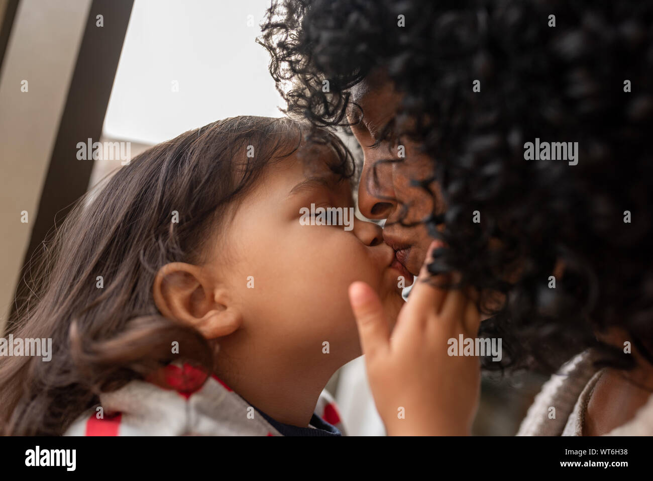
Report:
M0 3L3 20L10 3L14 2ZM22 0L15 4L18 8L0 71L0 332L37 217L91 2ZM27 223L21 222L24 210Z

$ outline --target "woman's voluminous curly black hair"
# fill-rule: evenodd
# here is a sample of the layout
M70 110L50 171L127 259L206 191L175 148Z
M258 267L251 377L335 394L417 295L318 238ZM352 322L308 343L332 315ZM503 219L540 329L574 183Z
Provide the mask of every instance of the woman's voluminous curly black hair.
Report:
M486 310L506 296L481 325L503 339L486 368L596 348L629 369L596 339L615 326L653 363L653 3L278 0L262 28L289 114L347 125L347 90L377 69L403 94L384 131L434 159L447 205L426 220L448 246L432 272L460 272ZM579 142L578 164L525 160L535 138Z

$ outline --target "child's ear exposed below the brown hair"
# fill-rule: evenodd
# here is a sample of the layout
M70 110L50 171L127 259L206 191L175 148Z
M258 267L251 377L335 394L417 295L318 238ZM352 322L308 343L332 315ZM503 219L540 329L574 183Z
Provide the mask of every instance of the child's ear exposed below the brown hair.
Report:
M197 265L164 265L154 278L152 294L163 316L192 325L206 339L229 335L242 322L225 292Z

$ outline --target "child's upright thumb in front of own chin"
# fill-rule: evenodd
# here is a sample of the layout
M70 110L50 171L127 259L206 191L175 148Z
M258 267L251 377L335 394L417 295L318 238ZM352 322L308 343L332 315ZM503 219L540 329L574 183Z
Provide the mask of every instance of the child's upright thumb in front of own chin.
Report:
M367 361L387 350L390 328L377 294L364 282L349 286L349 303L356 318L360 346Z

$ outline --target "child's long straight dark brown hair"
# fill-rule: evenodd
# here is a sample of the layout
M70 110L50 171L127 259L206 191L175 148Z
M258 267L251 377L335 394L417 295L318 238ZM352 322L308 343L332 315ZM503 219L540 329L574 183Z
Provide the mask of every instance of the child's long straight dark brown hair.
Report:
M1 361L0 431L60 435L99 403L101 391L170 361L214 369L215 345L158 312L155 274L174 261L200 263L204 243L229 223L231 207L265 167L307 142L330 144L340 163L329 167L353 174L349 152L331 133L287 118L241 116L153 146L82 197L44 243L48 256L25 276L39 272L10 329L14 337L52 338L52 361ZM180 354L172 354L173 341Z

